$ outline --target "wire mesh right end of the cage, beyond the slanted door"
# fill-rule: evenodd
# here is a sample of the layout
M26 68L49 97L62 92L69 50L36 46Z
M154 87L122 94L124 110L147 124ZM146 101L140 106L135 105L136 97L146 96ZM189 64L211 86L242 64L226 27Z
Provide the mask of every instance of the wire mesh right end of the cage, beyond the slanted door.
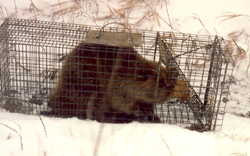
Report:
M215 36L178 33L167 33L165 40L170 45L188 83L203 102L206 110L212 113L212 121L209 121L209 117L208 121L205 121L211 122L209 129L215 130L216 127L221 127L229 93L228 78L233 70L230 64L233 60L225 41ZM182 115L182 112L179 114Z

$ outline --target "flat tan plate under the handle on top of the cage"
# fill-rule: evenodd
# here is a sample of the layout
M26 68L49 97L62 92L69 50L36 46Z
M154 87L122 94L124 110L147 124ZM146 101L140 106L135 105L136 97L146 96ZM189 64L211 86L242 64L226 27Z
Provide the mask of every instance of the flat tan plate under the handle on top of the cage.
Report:
M102 31L100 36L97 37L99 32L99 30L88 30L84 42L121 47L142 45L142 35L140 33Z

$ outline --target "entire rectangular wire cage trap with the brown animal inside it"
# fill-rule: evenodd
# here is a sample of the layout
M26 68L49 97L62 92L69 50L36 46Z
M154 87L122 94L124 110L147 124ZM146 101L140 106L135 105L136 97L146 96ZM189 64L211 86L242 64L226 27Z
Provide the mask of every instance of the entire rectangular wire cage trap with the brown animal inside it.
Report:
M232 62L218 36L7 19L0 27L0 107L215 130Z

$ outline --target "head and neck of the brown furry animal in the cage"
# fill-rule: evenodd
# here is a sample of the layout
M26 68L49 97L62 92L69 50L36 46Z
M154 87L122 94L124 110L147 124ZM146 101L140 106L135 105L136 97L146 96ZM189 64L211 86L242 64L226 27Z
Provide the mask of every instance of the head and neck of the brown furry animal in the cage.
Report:
M176 68L159 65L159 62L143 58L129 49L118 55L113 67L112 93L124 99L146 103L166 101L173 92L179 72ZM118 87L115 87L118 86Z

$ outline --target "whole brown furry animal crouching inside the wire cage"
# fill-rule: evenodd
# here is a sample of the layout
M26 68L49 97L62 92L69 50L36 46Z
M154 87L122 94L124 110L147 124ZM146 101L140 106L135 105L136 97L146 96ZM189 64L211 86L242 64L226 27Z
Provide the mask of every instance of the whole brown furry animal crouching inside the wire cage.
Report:
M81 43L63 63L49 97L52 111L43 114L111 123L159 122L154 103L170 97L179 73L161 66L157 90L158 67L132 47Z

